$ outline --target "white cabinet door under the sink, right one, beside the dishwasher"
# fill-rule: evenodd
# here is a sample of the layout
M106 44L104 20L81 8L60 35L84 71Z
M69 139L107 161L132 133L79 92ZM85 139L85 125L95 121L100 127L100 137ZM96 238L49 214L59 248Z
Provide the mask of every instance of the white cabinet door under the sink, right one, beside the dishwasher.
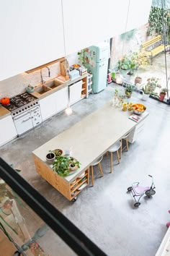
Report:
M68 87L54 93L55 113L62 111L68 106Z

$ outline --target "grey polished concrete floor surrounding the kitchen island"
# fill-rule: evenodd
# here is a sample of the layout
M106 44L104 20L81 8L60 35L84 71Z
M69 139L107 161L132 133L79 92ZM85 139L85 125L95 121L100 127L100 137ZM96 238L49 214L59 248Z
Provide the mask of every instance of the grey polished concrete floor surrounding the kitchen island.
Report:
M161 56L155 61L160 61L159 58ZM156 74L159 74L158 69ZM104 177L97 176L94 187L86 187L76 202L69 202L45 182L36 173L32 160L32 150L104 106L112 99L114 90L115 85L111 83L101 93L89 95L88 99L73 105L71 116L66 116L64 111L53 116L26 135L1 147L0 154L6 162L22 169L21 175L107 255L153 256L166 233L166 222L170 218L169 106L151 98L145 102L149 116L143 132L130 144L129 151L122 153L120 165L117 165L115 155L112 174L109 173L109 156L104 156ZM133 92L134 103L143 102L140 98L140 94ZM153 175L156 195L151 199L141 198L140 207L134 208L134 200L127 188L132 182L149 186L151 178L148 174ZM25 221L27 223L27 216ZM36 225L36 221L32 221L28 229L36 229ZM40 244L46 255L73 255L52 231L40 239ZM56 253L58 247L64 251Z

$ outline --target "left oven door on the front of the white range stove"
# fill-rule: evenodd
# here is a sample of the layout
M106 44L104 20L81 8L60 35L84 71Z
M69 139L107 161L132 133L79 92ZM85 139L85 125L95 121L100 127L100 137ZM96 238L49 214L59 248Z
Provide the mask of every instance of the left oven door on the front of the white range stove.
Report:
M32 116L30 111L14 117L14 124L17 129L17 134L22 135L22 133L27 132L29 129L33 128Z

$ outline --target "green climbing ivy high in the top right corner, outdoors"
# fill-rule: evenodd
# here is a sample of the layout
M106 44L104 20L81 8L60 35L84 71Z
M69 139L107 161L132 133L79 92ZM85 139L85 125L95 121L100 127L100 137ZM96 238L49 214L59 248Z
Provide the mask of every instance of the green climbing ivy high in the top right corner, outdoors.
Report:
M167 25L167 10L159 7L151 7L149 14L148 35L153 35L156 32L158 35L163 35L164 25Z

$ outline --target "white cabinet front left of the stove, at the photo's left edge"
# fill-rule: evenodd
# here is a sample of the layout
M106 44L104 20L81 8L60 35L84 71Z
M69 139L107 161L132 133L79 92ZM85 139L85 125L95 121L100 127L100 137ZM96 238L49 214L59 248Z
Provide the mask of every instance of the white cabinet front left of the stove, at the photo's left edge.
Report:
M6 116L0 120L0 146L17 137L12 116Z

